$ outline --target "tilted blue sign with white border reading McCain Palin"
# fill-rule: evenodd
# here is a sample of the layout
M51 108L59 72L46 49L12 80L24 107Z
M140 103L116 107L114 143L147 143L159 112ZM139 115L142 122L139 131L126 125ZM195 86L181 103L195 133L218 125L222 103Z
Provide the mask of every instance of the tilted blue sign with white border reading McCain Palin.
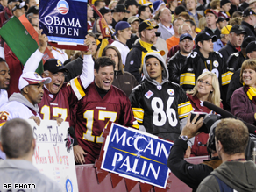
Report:
M134 181L166 188L168 154L173 143L112 124L106 138L102 169Z

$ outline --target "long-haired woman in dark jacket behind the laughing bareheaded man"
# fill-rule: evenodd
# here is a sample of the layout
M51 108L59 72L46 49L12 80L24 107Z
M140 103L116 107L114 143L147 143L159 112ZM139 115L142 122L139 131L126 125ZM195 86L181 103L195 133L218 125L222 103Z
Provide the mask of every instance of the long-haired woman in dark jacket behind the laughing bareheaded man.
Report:
M139 83L132 74L124 71L120 52L115 46L106 46L103 49L102 56L110 57L116 62L115 76L112 84L123 90L126 96L130 96L132 89Z

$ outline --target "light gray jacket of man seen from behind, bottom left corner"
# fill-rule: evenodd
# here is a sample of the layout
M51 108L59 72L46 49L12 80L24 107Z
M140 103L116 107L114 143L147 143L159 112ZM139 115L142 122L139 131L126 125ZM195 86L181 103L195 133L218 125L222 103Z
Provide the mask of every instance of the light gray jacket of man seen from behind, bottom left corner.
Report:
M46 175L39 173L39 170L32 165L28 160L1 160L0 161L0 181L1 191L7 191L3 188L4 183L12 185L11 191L18 191L18 188L14 188L14 183L26 183L34 184L36 188L25 189L26 192L59 192L64 191L64 188L60 188L60 184L52 181Z

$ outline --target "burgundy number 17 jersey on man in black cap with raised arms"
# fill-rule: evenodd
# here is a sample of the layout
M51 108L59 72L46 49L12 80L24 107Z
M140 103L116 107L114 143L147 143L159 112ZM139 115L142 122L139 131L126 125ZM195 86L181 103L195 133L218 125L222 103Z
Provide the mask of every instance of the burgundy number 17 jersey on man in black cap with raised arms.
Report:
M70 125L73 125L69 108L75 105L82 96L84 96L84 90L79 77L64 83L57 94L51 94L44 87L44 96L39 103L39 115L43 120L61 117L63 121L68 121Z

